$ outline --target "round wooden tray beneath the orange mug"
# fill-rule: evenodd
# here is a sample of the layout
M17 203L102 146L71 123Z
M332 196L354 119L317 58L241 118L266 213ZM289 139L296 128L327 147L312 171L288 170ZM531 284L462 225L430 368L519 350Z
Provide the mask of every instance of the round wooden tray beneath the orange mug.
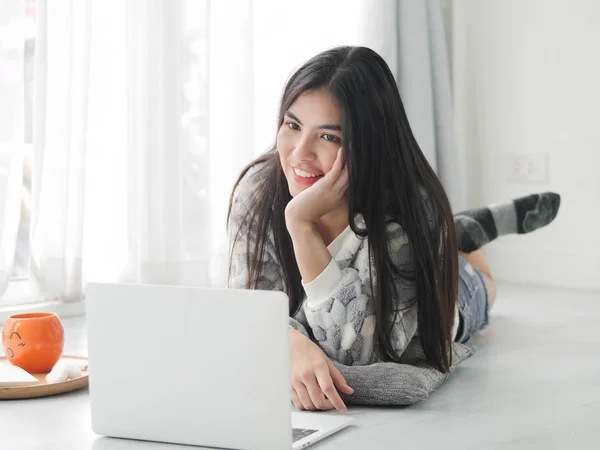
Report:
M0 356L0 362L4 362L6 356ZM60 358L64 360L77 360L86 361L87 358L83 356L69 356L63 355ZM89 383L88 371L82 370L79 378L73 378L67 381L59 381L58 383L46 382L46 373L33 374L38 380L39 384L28 384L26 386L6 386L0 387L0 400L3 399L18 399L18 398L34 398L34 397L46 397L48 395L62 394L65 392L71 392L76 389L84 388Z

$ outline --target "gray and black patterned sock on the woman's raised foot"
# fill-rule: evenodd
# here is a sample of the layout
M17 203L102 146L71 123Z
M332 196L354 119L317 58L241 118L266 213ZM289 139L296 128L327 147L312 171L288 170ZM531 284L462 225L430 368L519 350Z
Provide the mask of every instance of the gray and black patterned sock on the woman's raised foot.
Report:
M544 192L460 212L454 216L459 248L471 253L498 236L531 233L552 222L559 207L560 195Z

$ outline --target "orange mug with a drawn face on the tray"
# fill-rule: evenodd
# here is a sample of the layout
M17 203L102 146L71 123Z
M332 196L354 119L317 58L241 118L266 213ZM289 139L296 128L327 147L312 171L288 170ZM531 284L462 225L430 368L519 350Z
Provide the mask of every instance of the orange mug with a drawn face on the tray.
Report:
M29 373L50 372L62 355L64 342L62 323L54 313L16 314L4 322L4 353L13 366Z

